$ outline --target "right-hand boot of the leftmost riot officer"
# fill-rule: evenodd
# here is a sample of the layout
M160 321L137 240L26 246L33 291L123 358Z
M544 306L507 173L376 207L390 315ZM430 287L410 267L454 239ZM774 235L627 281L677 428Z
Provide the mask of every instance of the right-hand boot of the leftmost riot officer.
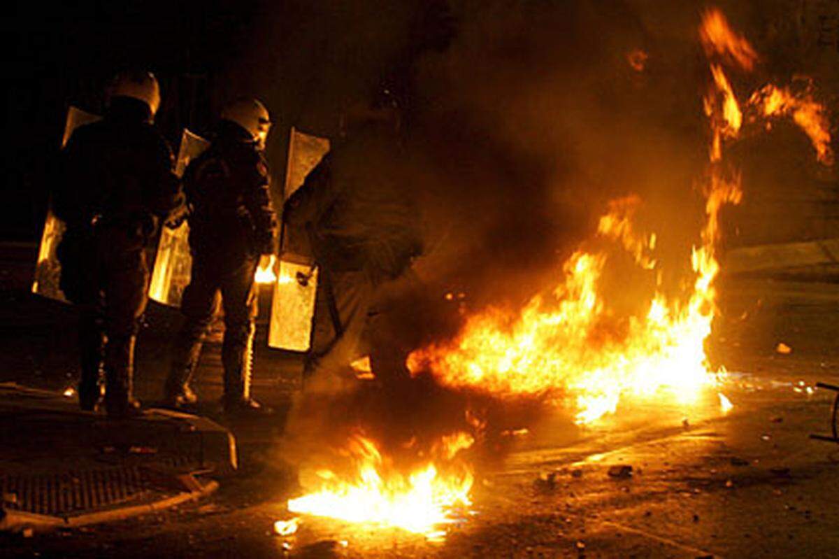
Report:
M105 410L109 417L141 415L140 403L134 400L134 344L137 337L109 340L105 352Z

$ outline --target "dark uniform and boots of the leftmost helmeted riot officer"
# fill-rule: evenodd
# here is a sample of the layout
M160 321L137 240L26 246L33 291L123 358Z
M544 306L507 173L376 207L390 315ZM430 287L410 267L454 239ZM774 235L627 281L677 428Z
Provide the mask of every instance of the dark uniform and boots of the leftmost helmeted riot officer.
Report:
M81 407L99 399L105 369L109 415L136 408L134 342L148 302L145 248L183 204L172 151L150 124L149 105L114 97L105 118L78 128L63 153L54 198L66 231L61 289L81 310Z

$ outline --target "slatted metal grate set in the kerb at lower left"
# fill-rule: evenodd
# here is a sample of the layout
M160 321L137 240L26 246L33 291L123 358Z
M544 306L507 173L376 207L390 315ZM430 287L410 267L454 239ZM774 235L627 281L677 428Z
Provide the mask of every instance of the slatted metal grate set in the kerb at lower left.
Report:
M3 506L39 515L73 515L159 494L145 468L113 467L47 475L0 476Z

